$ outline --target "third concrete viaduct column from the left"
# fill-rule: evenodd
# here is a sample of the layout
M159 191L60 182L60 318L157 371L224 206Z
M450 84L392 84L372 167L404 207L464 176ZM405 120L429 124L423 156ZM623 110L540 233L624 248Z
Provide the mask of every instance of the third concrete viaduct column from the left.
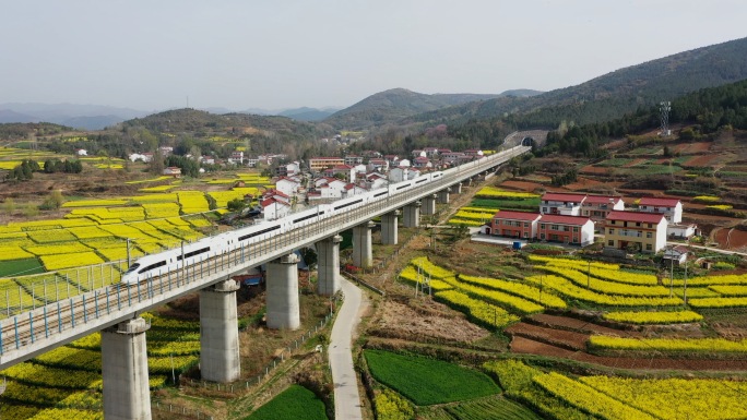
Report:
M298 329L298 256L288 254L268 263L268 327Z

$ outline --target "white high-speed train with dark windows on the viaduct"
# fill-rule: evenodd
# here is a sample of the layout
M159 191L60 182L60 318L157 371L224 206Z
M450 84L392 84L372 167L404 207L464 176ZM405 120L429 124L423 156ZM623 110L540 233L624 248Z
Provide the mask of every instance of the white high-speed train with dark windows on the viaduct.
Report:
M509 153L509 151L503 153ZM446 172L452 170L459 169L448 169ZM444 172L442 171L428 172L412 180L392 183L388 187L354 195L348 199L339 200L331 204L318 205L313 208L294 213L277 220L232 230L214 237L203 238L199 241L185 244L181 248L145 255L138 259L128 271L122 274L121 284L137 285L140 281L144 281L161 274L181 269L186 266L208 260L209 257L221 255L229 250L263 242L275 235L317 223L320 219L334 216L341 212L347 212L387 196L406 193L407 190L425 185L428 182L438 181L443 176Z

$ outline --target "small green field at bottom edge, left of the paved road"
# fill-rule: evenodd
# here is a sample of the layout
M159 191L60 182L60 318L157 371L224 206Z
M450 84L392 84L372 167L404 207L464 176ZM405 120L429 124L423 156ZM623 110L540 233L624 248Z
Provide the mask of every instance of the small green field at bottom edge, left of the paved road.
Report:
M324 403L312 392L290 385L270 403L260 407L245 420L328 420Z

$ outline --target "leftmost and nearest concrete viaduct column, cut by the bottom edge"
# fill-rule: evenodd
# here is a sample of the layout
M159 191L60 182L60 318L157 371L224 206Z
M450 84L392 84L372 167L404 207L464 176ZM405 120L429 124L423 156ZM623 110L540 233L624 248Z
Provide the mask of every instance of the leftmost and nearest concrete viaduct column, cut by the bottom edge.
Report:
M102 331L106 420L151 419L145 347L145 332L150 327L145 320L138 317Z

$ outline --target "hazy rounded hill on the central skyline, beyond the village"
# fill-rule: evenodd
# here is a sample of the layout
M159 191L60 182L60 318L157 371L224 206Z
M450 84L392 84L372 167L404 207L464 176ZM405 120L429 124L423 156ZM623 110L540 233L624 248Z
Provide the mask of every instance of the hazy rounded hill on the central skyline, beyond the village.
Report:
M472 101L483 101L503 95L530 96L540 92L515 89L503 94L434 94L426 95L403 88L389 89L340 110L324 122L339 129L365 129L392 123L402 118Z

